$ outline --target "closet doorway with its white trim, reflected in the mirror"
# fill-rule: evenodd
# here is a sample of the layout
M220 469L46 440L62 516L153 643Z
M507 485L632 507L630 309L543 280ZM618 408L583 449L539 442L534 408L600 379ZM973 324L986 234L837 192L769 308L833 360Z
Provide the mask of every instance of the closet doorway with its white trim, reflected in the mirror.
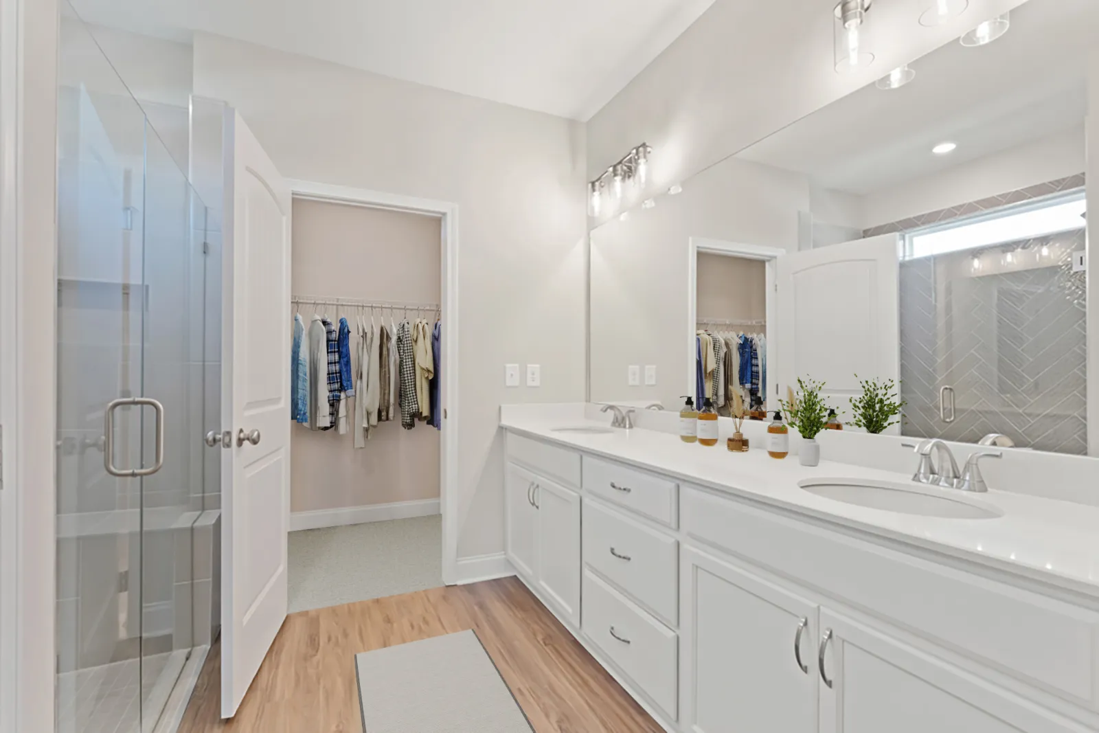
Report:
M685 393L699 407L710 398L718 413L728 417L735 391L745 410L777 409L775 284L776 262L784 253L690 238Z

